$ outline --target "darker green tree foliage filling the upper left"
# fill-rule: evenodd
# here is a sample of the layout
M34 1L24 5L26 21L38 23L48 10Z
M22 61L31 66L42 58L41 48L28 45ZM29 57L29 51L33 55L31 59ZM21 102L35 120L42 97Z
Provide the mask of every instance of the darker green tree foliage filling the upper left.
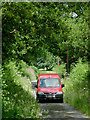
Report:
M65 24L60 19L61 6L57 3L38 2L3 3L3 60L8 55L8 59L21 58L29 63L43 56L45 49L58 54L56 41L61 39L62 32L61 37L66 36Z

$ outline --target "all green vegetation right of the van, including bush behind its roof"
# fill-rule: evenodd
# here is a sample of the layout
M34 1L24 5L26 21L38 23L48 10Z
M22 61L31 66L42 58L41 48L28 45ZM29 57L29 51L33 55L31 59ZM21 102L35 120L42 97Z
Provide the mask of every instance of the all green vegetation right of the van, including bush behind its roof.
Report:
M54 67L53 71L59 74L61 82L65 84L63 88L64 102L90 116L88 62L80 58L76 63L72 63L68 76L66 75L65 64Z

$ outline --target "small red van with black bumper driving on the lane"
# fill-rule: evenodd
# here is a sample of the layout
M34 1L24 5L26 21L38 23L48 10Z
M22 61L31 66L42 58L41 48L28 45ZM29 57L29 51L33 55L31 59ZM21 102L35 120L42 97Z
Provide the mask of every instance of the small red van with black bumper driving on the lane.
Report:
M61 84L58 74L40 74L36 87L39 101L52 99L63 103L64 84Z

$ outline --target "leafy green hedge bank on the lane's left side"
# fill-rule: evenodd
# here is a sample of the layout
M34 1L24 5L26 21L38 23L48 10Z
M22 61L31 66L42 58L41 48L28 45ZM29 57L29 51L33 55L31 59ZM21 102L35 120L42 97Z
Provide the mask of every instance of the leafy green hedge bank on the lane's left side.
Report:
M30 81L18 74L15 62L5 64L2 76L2 117L38 118L38 104L31 95Z

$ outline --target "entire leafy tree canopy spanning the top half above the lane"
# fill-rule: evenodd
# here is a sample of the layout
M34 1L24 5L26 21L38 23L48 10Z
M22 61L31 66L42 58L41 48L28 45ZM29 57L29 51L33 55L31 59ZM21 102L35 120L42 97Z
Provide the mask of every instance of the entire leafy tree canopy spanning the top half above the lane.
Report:
M45 49L65 58L68 48L70 62L87 56L88 3L4 3L2 11L4 60L33 61Z

